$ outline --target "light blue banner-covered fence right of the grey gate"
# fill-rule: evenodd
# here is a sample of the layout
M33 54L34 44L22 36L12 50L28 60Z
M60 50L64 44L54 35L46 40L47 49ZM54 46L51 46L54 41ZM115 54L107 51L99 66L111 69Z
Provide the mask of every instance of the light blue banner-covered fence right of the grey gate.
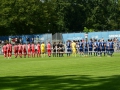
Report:
M63 41L67 40L81 40L85 38L86 33L63 33ZM95 39L113 39L117 38L120 40L120 31L107 31L107 32L90 32L88 33L88 40L90 38L95 38Z

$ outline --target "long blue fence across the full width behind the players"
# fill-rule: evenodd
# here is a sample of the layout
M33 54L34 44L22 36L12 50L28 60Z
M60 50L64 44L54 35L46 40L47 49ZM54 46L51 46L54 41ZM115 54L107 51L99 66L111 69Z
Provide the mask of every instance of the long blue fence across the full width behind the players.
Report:
M12 41L12 38L21 38L22 43L27 43L27 39L29 42L34 41L37 42L66 42L67 40L81 40L85 38L86 33L55 33L52 34L35 34L35 35L17 35L17 36L0 36L0 40L8 40ZM113 39L117 38L120 40L120 31L107 31L107 32L90 32L88 33L88 40L90 38L95 39Z

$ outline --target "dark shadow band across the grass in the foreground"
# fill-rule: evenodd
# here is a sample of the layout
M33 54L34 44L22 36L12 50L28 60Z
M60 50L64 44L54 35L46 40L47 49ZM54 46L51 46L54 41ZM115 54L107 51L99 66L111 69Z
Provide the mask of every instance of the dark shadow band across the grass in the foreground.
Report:
M120 76L87 75L0 77L0 90L120 90Z

